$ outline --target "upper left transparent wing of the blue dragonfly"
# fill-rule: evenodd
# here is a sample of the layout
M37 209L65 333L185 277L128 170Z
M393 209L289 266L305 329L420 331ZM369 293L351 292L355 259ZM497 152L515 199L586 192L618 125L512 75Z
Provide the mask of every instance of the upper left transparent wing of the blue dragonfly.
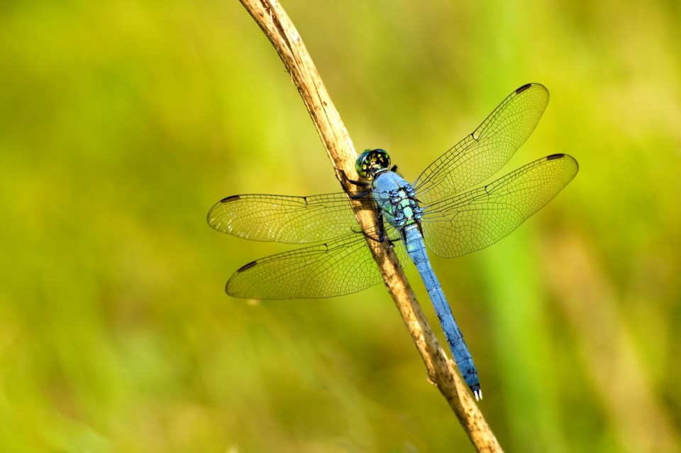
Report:
M368 198L362 203L370 209ZM310 197L233 195L211 208L208 224L245 239L286 244L326 241L360 228L345 193Z

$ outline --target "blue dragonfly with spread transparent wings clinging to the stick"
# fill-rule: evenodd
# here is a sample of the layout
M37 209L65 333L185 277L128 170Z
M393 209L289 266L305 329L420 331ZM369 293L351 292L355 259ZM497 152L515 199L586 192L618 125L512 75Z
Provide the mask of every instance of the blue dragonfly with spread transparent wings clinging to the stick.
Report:
M208 223L254 241L322 243L246 264L228 280L237 298L330 298L382 282L366 240L388 240L400 260L411 258L433 302L454 360L475 398L480 380L463 335L431 267L433 253L454 258L483 249L516 229L575 177L577 161L553 154L486 185L535 129L548 90L526 84L509 94L470 135L437 158L410 184L382 149L357 160L365 181L349 196L360 209L377 209L379 222L362 231L345 192L289 197L233 195L216 203Z

